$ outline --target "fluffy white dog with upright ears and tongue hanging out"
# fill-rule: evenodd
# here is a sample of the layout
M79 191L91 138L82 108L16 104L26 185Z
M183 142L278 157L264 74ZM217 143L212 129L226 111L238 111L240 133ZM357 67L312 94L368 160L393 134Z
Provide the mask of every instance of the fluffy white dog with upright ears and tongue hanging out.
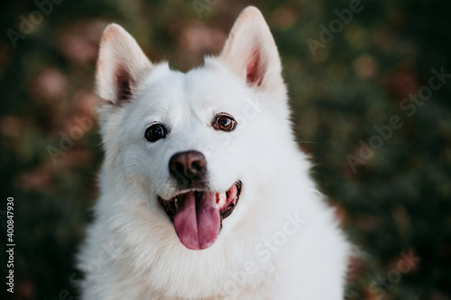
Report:
M258 9L188 73L109 25L97 93L106 158L83 299L343 299L351 247L294 141Z

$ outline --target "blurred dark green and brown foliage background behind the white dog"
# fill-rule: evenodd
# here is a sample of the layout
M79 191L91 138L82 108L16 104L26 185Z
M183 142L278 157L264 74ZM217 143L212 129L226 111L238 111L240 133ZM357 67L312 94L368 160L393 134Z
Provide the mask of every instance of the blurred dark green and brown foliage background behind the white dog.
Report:
M2 281L2 299L77 298L74 253L92 219L103 156L92 109L106 24L123 25L150 59L188 70L221 50L246 5L262 10L279 46L299 145L315 162L312 174L364 251L345 298L451 299L451 82L421 105L405 100L427 91L432 68L451 74L451 3L363 0L340 28L334 11L351 2L4 1L3 278L7 196L14 196L16 248L15 293L6 293ZM327 42L315 43L321 38ZM409 116L413 106L405 105L415 113ZM382 139L374 126L389 134L384 126L394 115L402 126ZM379 149L358 160L370 142ZM349 159L361 163L352 167Z

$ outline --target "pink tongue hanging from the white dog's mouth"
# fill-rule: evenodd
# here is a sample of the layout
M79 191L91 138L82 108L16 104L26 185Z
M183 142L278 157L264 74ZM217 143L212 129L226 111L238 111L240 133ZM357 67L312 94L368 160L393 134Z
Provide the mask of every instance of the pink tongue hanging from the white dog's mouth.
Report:
M216 193L203 192L198 201L194 192L179 199L179 212L174 216L175 232L182 244L191 250L210 247L221 226L216 208Z

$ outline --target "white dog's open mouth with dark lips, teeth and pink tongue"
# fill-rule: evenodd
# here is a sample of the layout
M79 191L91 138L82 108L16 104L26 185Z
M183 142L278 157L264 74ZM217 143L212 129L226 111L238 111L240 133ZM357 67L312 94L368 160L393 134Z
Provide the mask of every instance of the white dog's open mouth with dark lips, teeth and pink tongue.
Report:
M158 198L181 243L191 250L202 250L216 241L222 220L238 203L241 186L238 180L222 193L194 189L167 200Z

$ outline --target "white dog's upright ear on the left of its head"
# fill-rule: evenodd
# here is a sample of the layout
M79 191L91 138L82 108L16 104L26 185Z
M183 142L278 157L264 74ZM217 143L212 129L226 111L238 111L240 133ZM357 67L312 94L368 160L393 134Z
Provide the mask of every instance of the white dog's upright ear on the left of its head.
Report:
M130 101L152 63L133 37L117 24L106 27L97 59L96 88L102 105Z

